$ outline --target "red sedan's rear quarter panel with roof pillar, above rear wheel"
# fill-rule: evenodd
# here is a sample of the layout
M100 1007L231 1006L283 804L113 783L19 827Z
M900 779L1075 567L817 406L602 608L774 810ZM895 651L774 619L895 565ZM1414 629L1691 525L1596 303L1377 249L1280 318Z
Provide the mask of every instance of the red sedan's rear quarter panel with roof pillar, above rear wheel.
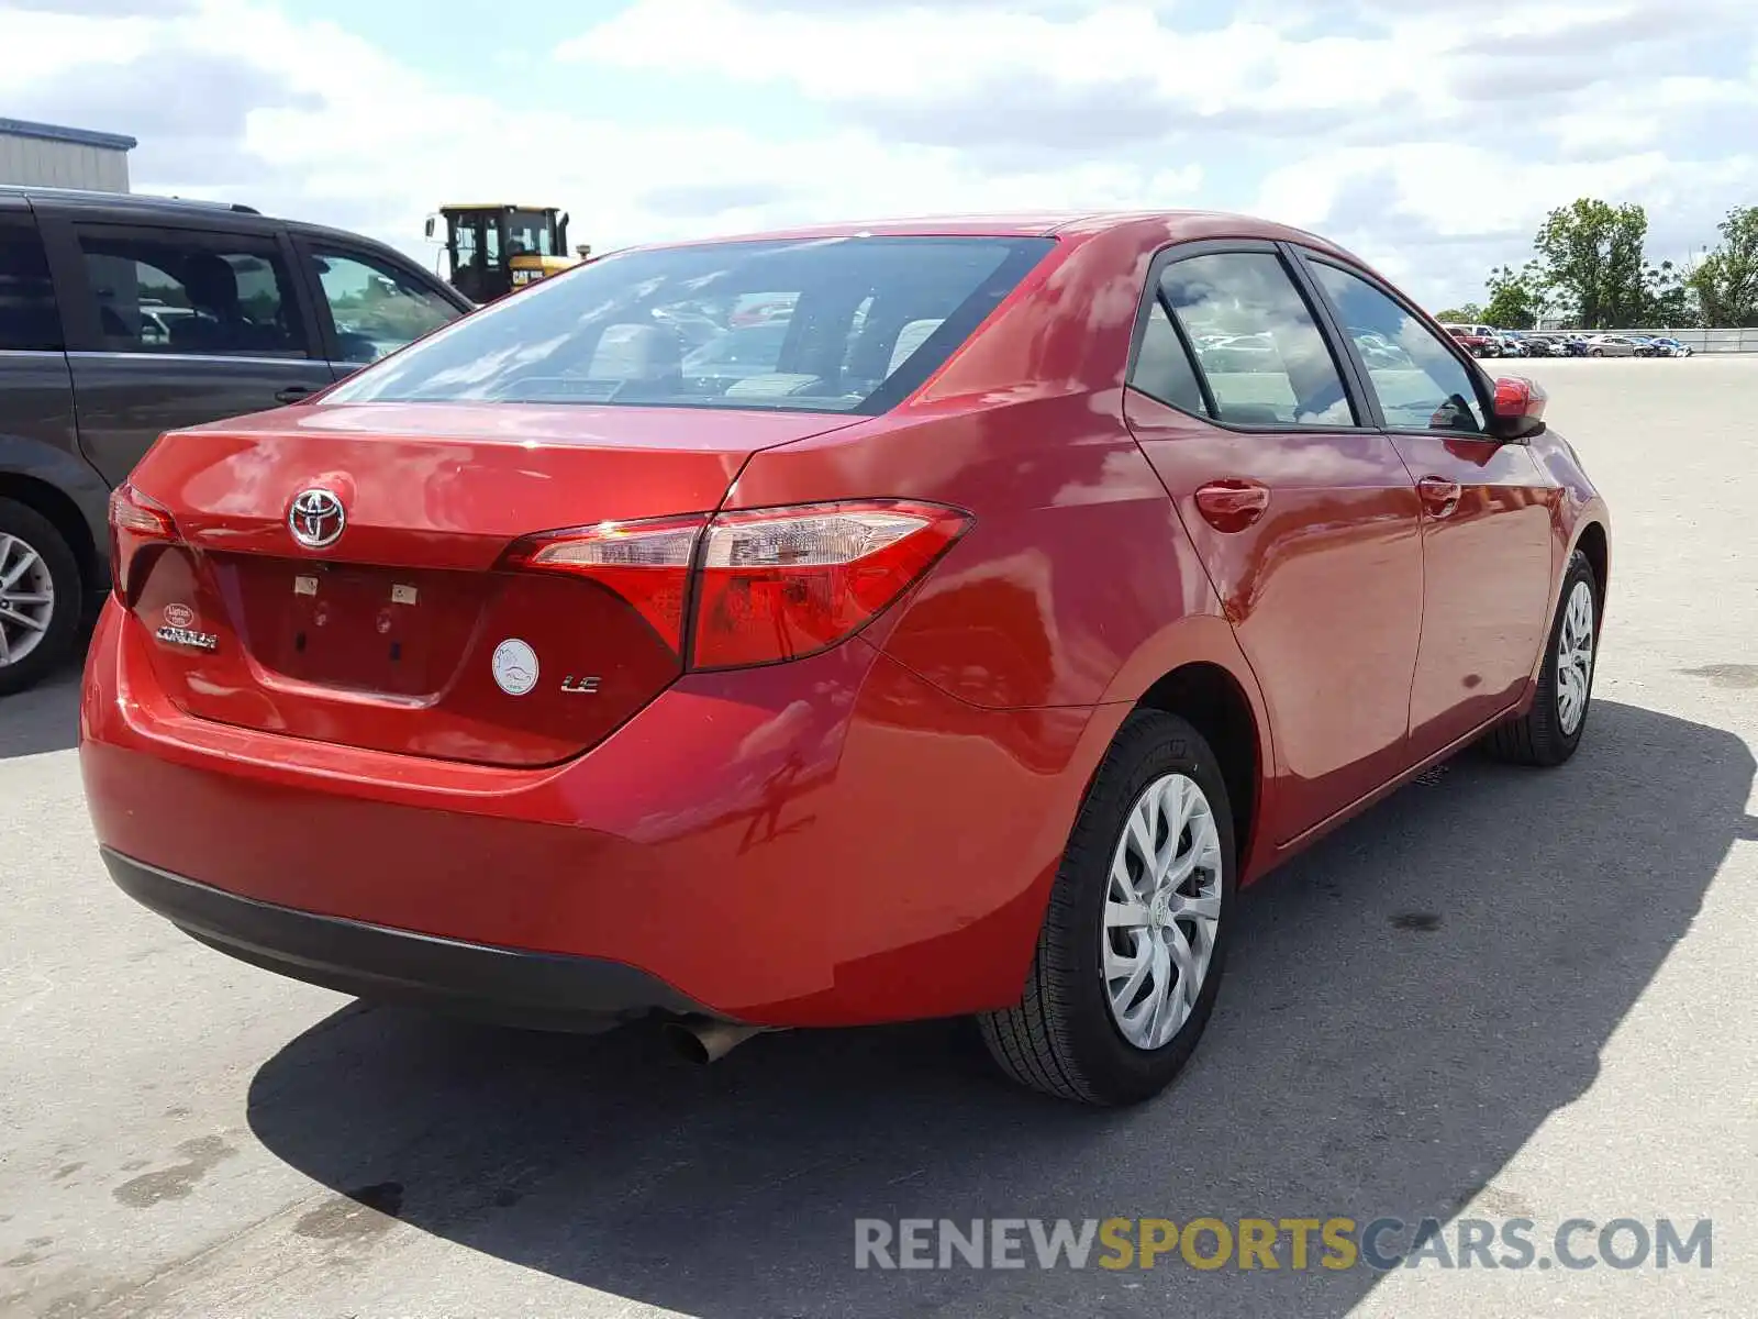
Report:
M860 644L974 711L1081 712L1074 744L1060 718L1009 733L1021 742L1013 754L1057 776L1039 802L1053 804L1048 820L1034 820L1009 860L1037 876L1023 895L1032 930L1092 772L1169 670L1206 661L1232 674L1273 763L1252 672L1122 415L1141 281L1164 234L1106 241L1004 306L911 403L756 454L724 505L893 496L974 514L965 538ZM981 791L956 795L969 804Z

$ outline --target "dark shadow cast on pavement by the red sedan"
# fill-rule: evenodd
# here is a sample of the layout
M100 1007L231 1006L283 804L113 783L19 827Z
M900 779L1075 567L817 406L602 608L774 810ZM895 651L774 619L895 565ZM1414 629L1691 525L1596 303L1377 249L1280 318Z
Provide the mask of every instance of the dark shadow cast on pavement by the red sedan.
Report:
M643 1029L355 1004L260 1068L250 1124L422 1231L716 1319L1341 1315L1377 1273L858 1272L854 1219L1415 1222L1486 1185L1522 1213L1498 1173L1591 1085L1753 835L1753 758L1728 732L1598 702L1565 770L1466 754L1427 779L1250 890L1208 1038L1136 1110L1014 1090L953 1022L759 1036L696 1069ZM369 1249L376 1215L350 1217Z

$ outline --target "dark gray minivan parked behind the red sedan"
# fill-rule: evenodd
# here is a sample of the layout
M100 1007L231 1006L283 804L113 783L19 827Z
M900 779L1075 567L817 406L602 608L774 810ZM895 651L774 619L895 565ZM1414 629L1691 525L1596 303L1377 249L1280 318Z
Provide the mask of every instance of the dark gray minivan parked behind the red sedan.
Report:
M162 431L306 397L471 304L248 206L0 186L0 696L109 586L109 491Z

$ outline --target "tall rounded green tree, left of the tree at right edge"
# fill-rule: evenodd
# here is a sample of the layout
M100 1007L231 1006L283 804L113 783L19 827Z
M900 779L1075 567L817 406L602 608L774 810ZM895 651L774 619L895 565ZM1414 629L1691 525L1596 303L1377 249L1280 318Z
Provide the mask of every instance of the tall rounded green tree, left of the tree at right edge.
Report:
M1533 246L1544 285L1582 329L1635 325L1649 310L1647 211L1582 197L1545 216Z

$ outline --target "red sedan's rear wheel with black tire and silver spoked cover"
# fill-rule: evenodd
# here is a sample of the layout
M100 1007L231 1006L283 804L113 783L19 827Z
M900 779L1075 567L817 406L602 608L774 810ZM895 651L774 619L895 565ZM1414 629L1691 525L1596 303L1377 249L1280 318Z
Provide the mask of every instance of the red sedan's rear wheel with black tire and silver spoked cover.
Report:
M1208 742L1178 716L1132 712L1074 821L1025 994L979 1018L1002 1071L1088 1104L1164 1090L1215 1009L1236 867Z

